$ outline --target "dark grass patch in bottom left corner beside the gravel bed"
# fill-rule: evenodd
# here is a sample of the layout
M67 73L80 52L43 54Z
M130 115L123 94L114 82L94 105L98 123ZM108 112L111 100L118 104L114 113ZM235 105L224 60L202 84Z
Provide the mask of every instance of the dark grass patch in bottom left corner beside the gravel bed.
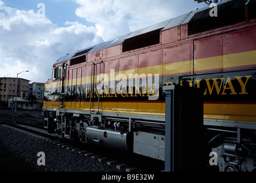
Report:
M11 153L0 141L0 172L32 172L21 158Z

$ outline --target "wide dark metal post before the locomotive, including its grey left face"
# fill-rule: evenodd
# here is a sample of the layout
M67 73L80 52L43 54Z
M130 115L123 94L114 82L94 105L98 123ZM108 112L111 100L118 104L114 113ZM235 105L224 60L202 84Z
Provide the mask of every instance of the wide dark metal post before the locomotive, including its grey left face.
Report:
M203 152L203 93L194 87L175 85L163 86L162 90L165 92L165 172L197 169Z

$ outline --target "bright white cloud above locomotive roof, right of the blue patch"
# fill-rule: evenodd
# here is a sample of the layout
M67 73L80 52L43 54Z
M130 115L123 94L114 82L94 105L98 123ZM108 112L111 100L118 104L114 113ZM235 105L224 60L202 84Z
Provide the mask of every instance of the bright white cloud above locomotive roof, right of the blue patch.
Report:
M96 34L108 41L174 16L171 1L75 0L78 17L94 23Z

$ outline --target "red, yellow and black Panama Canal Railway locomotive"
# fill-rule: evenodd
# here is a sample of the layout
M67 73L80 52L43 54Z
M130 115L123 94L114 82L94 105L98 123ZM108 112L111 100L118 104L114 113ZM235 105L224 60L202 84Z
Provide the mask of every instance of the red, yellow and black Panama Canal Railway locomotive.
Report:
M164 161L162 87L199 88L204 148L218 169L256 170L256 1L217 7L217 17L204 7L59 58L45 83L44 127Z

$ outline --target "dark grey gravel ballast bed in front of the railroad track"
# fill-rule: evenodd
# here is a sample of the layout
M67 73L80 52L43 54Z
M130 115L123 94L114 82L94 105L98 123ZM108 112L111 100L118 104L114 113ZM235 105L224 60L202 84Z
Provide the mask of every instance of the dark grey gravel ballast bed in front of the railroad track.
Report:
M116 165L99 162L98 158L85 156L53 142L30 136L19 130L0 125L0 141L35 172L117 172ZM38 165L38 152L44 152L45 165Z

